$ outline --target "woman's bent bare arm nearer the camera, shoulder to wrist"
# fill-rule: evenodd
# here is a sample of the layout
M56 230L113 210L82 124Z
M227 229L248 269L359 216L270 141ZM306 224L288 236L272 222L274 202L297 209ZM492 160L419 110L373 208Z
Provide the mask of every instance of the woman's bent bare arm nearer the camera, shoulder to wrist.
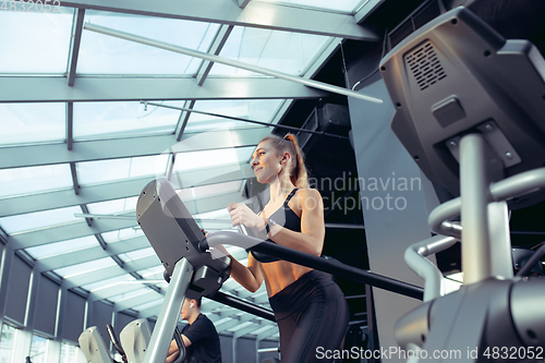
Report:
M299 190L298 194L298 209L301 208L301 233L275 225L270 227L268 237L277 244L320 256L326 235L322 195L314 189Z

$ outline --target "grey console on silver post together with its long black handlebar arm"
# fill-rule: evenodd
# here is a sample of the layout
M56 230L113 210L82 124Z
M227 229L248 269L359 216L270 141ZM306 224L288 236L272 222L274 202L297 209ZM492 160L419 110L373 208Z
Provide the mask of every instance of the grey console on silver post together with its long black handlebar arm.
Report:
M262 243L262 240L253 237L221 231L205 238L166 179L154 180L144 187L136 204L136 214L138 225L165 266L166 277L170 277L170 285L144 359L145 363L165 361L185 295L192 299L206 295L220 302L232 302L232 298L226 299L225 294L216 292L230 271L229 257L214 258L208 253L218 244L263 252L415 299L422 300L423 297L422 289L416 286L274 243ZM245 304L241 301L237 303ZM268 315L258 310L256 313Z

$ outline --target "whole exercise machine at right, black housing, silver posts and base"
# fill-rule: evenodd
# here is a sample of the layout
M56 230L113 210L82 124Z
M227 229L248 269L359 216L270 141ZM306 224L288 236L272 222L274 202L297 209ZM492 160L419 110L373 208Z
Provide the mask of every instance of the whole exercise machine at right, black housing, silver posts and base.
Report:
M507 205L544 195L545 61L531 43L506 40L457 8L396 46L380 71L396 107L393 132L429 180L460 195L428 223L461 240L464 286L439 297L434 282L429 299L398 322L400 347L423 349L428 355L413 360L426 362L543 360L545 280L513 279ZM449 221L460 214L463 227ZM438 252L446 240L411 250ZM423 263L423 254L409 254Z

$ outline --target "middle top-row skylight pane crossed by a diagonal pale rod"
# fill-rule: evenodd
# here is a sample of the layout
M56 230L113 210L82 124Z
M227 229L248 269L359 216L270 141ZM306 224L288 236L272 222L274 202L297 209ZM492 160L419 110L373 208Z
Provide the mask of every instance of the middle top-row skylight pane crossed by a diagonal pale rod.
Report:
M207 51L219 25L87 11L85 22L194 50ZM78 74L193 75L202 60L84 31Z

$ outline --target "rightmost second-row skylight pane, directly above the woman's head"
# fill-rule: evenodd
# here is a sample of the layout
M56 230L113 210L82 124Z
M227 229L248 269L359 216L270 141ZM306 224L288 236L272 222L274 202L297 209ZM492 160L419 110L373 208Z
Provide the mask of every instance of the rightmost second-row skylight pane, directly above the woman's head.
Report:
M253 121L270 122L282 102L282 99L197 100L194 109ZM194 112L190 116L185 131L196 132L218 128L235 129L254 126L262 128L262 125L255 123Z

